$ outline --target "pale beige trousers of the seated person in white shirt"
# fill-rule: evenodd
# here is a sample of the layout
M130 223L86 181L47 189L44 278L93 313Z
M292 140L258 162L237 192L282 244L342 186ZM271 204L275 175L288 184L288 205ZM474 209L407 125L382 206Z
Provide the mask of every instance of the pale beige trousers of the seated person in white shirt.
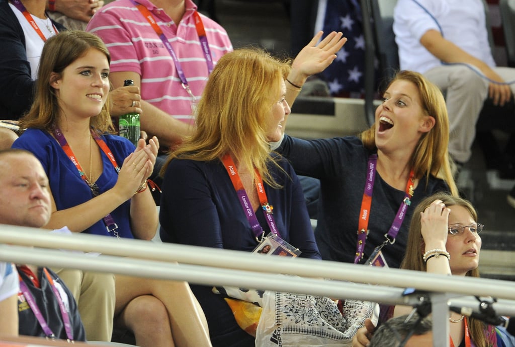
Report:
M515 82L515 69L493 69L506 82ZM449 113L449 153L454 160L467 162L476 133L476 122L488 97L488 81L464 65L441 65L424 76L446 93ZM510 85L515 93L515 83ZM515 115L514 115L515 117Z

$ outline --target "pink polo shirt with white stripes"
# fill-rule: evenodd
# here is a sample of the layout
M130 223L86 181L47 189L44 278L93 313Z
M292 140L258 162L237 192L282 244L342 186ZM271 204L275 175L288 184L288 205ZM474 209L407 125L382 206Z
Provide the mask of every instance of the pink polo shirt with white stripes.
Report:
M179 58L193 94L202 94L208 79L208 65L200 46L193 13L197 6L186 0L186 12L177 26L162 9L148 0L136 0L154 16ZM213 62L232 44L219 24L200 14ZM141 76L141 97L173 117L193 123L191 97L181 86L175 64L163 42L131 0L115 0L95 13L88 24L111 54L111 71L131 71Z

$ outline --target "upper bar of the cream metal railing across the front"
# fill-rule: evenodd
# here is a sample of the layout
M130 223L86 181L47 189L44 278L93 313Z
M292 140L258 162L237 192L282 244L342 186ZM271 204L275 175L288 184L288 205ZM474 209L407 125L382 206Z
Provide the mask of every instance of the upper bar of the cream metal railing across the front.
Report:
M465 295L494 296L515 300L513 283L499 279L453 277L419 271L363 267L335 261L255 256L248 252L211 249L179 244L160 244L142 240L116 239L98 235L73 234L71 236L48 234L41 229L0 224L0 242L132 258L177 261L217 268L250 270L255 272L287 273L304 277L333 278L355 283L399 287L409 284L419 290L448 292Z

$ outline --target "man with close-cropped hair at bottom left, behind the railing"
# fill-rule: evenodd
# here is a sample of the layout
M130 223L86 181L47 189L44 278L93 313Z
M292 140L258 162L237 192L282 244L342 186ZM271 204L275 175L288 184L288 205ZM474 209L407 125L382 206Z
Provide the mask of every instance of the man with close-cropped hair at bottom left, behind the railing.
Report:
M0 223L36 228L48 223L48 178L30 152L0 151L0 185ZM33 265L17 268L20 335L85 341L77 304L59 276Z

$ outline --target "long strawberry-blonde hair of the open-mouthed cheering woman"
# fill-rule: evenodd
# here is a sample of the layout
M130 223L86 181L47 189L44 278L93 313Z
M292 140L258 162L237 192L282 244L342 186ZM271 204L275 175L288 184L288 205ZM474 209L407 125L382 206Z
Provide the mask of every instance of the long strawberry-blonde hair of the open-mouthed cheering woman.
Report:
M398 80L409 81L417 87L424 113L435 119L435 126L420 137L411 156L411 167L415 171L415 178L420 179L427 174L427 186L429 174L432 174L443 179L449 185L453 195L458 195L458 188L452 175L449 159L449 116L442 92L423 75L413 71L399 71L389 82L386 89ZM359 137L368 150L377 150L375 146L375 124L363 131Z

